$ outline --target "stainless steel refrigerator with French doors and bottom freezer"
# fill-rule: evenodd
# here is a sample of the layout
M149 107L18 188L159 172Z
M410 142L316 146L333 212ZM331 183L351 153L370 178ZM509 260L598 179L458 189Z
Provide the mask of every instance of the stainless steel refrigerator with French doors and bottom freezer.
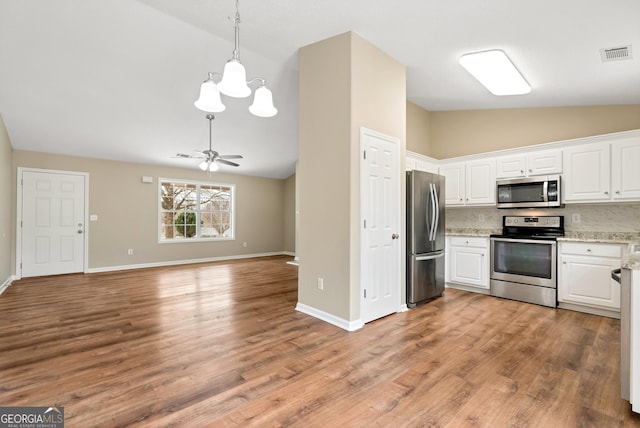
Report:
M444 177L407 171L407 306L444 293Z

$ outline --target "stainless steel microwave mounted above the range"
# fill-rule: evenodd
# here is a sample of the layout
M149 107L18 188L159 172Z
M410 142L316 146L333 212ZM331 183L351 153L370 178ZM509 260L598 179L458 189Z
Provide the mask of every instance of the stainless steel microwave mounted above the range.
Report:
M559 208L560 176L513 178L496 182L498 208Z

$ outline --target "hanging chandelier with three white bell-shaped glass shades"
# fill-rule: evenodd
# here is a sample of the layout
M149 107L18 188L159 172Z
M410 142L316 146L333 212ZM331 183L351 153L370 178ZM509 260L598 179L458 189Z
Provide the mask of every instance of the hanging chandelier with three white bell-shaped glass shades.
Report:
M246 98L251 95L249 85L257 84L257 89L253 96L253 104L249 106L249 111L259 117L272 117L278 113L273 106L271 91L266 86L266 81L261 77L247 81L247 73L244 65L240 62L240 12L238 11L239 0L236 0L236 15L233 19L235 29L235 49L233 57L224 66L222 79L216 83L214 79L220 76L219 73L209 73L209 77L200 86L200 97L194 103L195 106L208 113L219 113L225 110L220 93L234 98Z

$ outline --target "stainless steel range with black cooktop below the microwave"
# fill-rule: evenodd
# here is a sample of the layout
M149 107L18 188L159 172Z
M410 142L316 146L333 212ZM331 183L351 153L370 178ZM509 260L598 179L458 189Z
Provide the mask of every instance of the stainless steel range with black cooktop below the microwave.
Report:
M555 308L563 216L504 216L491 235L491 295Z

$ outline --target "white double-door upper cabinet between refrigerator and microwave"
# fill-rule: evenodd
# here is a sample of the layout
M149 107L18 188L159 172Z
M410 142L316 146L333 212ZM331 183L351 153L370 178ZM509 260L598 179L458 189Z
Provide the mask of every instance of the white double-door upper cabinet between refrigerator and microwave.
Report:
M495 205L496 164L494 159L452 163L440 167L445 176L447 206Z

